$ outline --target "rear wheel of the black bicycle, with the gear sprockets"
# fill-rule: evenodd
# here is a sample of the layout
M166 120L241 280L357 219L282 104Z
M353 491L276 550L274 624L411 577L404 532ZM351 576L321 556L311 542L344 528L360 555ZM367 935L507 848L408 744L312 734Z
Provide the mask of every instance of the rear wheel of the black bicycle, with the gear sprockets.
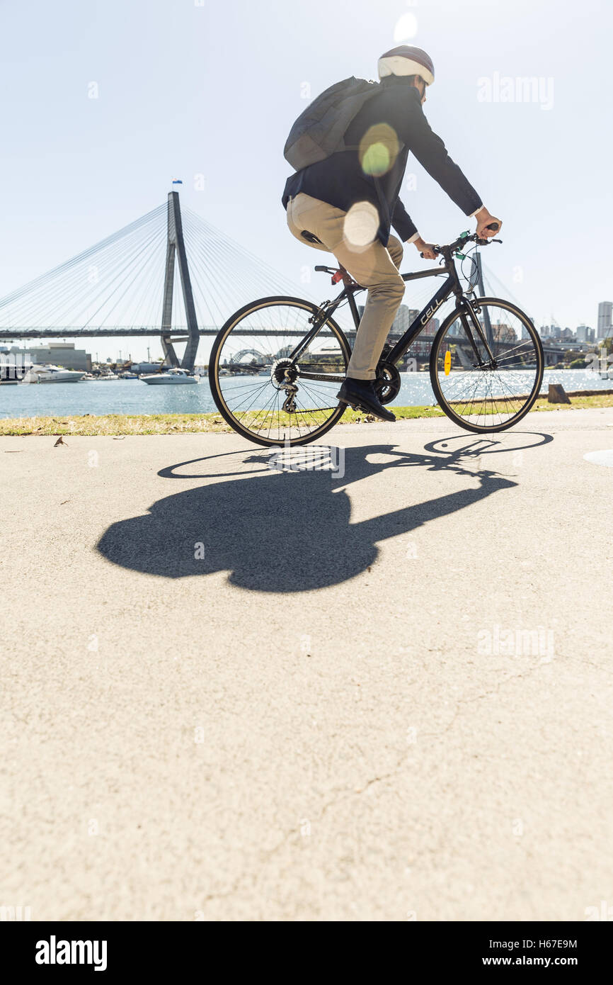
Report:
M350 357L331 318L297 359L319 308L299 297L263 297L220 329L209 361L215 405L227 424L256 444L307 444L337 424L337 391Z

